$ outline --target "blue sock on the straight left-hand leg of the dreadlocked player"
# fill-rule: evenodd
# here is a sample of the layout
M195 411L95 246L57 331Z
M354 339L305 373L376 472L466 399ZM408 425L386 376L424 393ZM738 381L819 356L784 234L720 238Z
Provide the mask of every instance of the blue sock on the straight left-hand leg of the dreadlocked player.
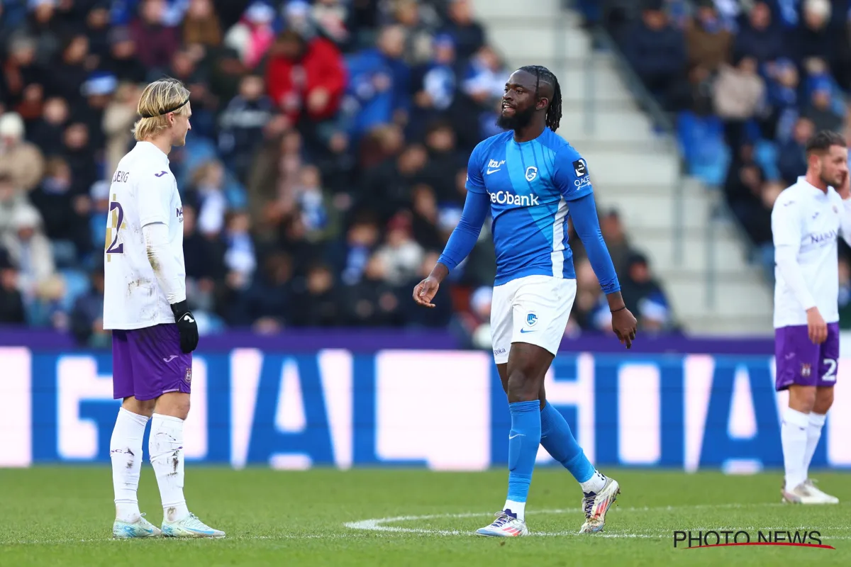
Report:
M540 445L540 401L517 401L508 407L511 410L511 433L508 435L507 500L511 505L521 508L512 509L511 512L523 519L523 508Z

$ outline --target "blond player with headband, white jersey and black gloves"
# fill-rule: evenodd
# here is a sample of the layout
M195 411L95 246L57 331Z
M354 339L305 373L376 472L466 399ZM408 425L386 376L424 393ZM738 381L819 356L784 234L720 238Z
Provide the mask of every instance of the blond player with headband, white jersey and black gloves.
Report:
M168 167L191 130L189 91L174 79L141 95L136 145L110 187L104 258L104 329L112 331L112 388L123 400L110 441L116 519L112 535L224 537L186 507L183 422L189 414L195 317L186 305L183 206ZM163 501L162 530L139 511L142 437Z

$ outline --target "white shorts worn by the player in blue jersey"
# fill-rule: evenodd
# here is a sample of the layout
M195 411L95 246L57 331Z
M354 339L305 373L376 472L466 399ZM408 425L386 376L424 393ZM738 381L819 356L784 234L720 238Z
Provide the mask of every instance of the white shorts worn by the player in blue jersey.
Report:
M575 298L576 280L551 275L527 275L494 287L490 332L496 364L508 362L511 343L556 354Z

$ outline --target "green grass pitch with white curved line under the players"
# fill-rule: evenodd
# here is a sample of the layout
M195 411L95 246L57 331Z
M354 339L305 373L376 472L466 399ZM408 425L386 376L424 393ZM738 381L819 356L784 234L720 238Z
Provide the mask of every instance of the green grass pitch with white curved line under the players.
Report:
M535 470L527 522L536 536L472 536L505 498L506 473L193 467L190 509L215 541L113 541L106 467L0 470L0 565L851 565L851 474L814 474L844 503L780 504L780 473L724 476L604 470L623 494L603 534L580 536L581 493L561 468ZM162 520L142 468L140 507ZM836 549L673 547L674 530L819 530Z

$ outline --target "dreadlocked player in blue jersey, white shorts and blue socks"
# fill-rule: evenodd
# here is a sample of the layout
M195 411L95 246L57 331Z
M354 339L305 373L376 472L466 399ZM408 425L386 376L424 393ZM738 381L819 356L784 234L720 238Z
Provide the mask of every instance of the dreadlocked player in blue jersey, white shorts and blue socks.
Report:
M528 534L526 498L539 445L580 483L585 524L603 530L620 486L591 465L568 423L546 403L544 377L562 341L576 297L568 217L607 294L612 329L626 348L636 318L626 309L603 241L588 165L556 134L562 94L556 77L538 65L522 67L505 83L497 122L509 132L479 143L467 166L467 196L458 226L414 301L431 301L440 282L471 252L488 213L493 218L496 281L491 307L494 360L511 409L508 497L494 522L477 534Z

